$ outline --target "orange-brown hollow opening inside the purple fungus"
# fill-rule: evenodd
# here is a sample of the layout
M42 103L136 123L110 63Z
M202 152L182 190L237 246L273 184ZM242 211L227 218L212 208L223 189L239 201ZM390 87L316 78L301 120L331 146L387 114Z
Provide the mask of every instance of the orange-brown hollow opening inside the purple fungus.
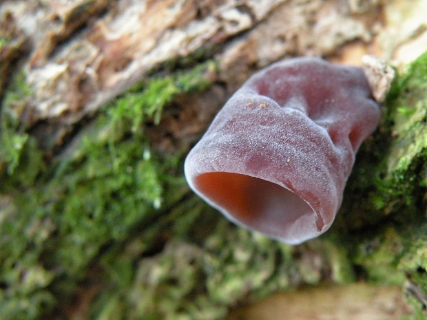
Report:
M198 191L234 220L271 237L287 235L305 215L315 221L313 209L302 198L267 180L213 172L198 175L195 184Z

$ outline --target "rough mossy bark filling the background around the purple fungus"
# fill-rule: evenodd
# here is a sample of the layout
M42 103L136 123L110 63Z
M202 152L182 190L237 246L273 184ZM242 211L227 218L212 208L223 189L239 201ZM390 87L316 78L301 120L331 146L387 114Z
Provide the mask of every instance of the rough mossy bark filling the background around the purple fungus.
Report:
M2 1L0 318L225 319L280 290L367 280L393 287L353 299L404 292L412 314L399 302L384 317L423 319L426 12L425 0ZM185 154L253 72L364 54L399 74L326 235L279 244L189 191Z

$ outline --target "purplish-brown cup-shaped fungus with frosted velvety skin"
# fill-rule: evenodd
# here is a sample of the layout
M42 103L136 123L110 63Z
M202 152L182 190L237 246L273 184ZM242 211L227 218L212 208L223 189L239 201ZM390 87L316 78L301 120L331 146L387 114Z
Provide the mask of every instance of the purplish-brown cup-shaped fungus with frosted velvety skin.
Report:
M231 221L288 244L331 226L381 112L358 67L294 58L231 96L185 160L189 186Z

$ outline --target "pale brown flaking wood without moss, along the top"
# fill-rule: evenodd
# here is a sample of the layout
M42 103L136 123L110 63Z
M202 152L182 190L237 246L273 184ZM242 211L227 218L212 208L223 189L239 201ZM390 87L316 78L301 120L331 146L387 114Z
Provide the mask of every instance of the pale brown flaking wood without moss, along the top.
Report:
M340 59L346 43L377 54L382 8L374 0L58 0L5 1L1 15L12 14L33 44L32 125L75 123L156 66L196 50L219 59L229 92L280 58Z

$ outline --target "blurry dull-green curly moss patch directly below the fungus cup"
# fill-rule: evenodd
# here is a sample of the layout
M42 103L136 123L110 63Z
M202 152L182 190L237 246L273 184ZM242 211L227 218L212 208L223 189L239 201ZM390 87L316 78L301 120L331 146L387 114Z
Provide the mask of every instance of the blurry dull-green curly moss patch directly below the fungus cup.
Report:
M238 228L205 204L198 209L202 217L192 230L185 237L169 239L152 257L138 259L147 243L146 232L118 255L105 256L105 279L112 287L98 297L94 315L108 313L106 319L117 314L125 319L224 319L229 308L239 303L329 281L326 274L331 272L333 281L343 283L339 275L349 260L331 242L289 246ZM206 230L202 220L215 228ZM200 241L189 236L199 228L205 230Z

